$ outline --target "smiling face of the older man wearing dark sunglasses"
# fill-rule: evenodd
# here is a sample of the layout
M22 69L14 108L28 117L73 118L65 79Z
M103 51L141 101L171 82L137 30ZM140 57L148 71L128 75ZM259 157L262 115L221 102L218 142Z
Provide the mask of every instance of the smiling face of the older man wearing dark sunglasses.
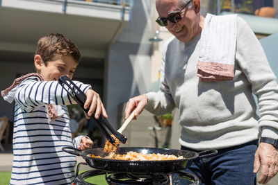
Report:
M197 19L197 14L191 7L193 1L183 10L184 5L179 3L179 0L158 0L156 1L156 10L159 17L168 17L170 12L177 12L181 10L181 20L177 23L172 23L167 21L167 30L172 33L179 41L188 42L197 35L199 19Z

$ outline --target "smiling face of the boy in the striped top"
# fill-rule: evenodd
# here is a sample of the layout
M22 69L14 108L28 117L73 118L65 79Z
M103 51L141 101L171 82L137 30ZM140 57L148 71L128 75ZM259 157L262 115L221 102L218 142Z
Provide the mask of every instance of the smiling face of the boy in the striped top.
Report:
M47 62L47 65L44 64L40 55L35 55L35 68L45 81L58 80L63 75L72 79L77 65L78 63L71 55L58 56L56 60Z

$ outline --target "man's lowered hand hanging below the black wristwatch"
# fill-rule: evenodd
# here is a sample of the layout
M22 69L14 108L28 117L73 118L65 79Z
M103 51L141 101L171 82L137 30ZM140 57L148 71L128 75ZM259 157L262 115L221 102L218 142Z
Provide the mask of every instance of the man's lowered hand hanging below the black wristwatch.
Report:
M266 184L278 172L278 151L268 143L260 143L255 153L254 173L258 173L261 166L261 176L258 182Z

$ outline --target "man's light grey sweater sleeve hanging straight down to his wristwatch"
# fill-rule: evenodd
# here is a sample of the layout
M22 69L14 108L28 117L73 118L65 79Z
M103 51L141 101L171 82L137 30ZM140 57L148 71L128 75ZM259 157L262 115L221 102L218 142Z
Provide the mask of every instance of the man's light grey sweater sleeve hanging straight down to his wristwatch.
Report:
M263 48L252 29L238 17L237 58L258 98L261 136L278 139L278 86Z

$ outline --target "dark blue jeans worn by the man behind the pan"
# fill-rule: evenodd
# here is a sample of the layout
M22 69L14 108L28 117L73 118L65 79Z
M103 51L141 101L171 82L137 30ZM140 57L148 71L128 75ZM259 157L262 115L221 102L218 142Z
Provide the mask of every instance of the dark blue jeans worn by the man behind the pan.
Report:
M197 158L185 171L199 177L200 184L206 185L256 185L256 173L253 173L254 154L258 141L240 146L218 150L210 158ZM200 152L181 146L181 150Z

